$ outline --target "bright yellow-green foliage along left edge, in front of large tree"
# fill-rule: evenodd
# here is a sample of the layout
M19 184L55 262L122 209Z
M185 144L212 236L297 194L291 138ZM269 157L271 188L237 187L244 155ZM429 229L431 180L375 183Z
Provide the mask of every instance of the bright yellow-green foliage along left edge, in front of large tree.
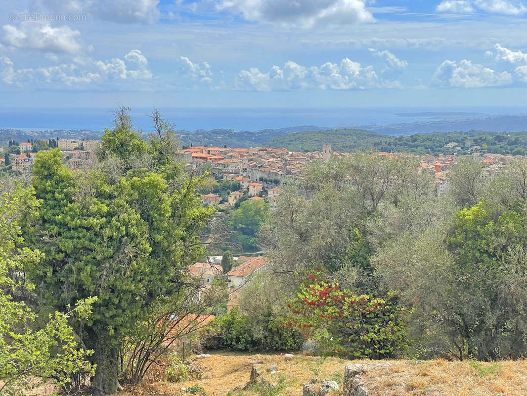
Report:
M30 215L37 203L29 191L17 187L4 195L0 205L0 394L24 395L26 391L52 380L65 390L72 389L72 377L93 374L86 362L90 354L79 348L69 319L86 320L96 298L77 301L74 309L50 314L42 327L25 303L34 285L21 278L25 265L38 265L43 254L23 247L19 219ZM44 319L44 318L41 318Z

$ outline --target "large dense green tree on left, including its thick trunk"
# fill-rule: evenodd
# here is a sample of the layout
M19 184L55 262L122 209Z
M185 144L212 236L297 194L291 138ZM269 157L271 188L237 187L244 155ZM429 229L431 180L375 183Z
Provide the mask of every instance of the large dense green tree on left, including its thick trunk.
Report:
M164 135L158 122L161 136L149 146L120 109L102 138L103 162L86 173L69 171L58 149L38 153L33 165L40 206L24 231L45 258L25 270L44 285L39 294L48 306L64 311L99 297L79 326L95 351L96 394L116 388L121 340L181 289L203 252L198 231L212 213L195 192L200 180L175 162L170 130Z

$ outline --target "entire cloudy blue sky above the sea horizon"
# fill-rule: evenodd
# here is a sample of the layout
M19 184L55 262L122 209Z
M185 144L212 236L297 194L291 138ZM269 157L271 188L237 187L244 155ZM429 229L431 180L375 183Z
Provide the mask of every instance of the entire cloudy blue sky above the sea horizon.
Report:
M0 4L4 107L525 106L527 0Z

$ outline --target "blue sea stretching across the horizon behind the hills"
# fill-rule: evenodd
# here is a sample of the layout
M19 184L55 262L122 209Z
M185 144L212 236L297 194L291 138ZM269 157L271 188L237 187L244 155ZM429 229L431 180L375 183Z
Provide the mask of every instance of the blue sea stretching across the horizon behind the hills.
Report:
M111 127L109 108L0 108L0 128L22 130ZM301 125L356 127L492 115L525 115L526 107L354 107L354 108L159 108L177 129L261 130ZM151 130L152 108L132 108L136 128Z

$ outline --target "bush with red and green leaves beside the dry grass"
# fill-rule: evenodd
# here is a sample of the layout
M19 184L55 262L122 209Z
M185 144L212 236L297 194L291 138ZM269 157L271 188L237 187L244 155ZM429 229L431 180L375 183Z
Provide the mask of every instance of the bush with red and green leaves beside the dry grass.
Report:
M337 354L386 359L401 354L406 346L404 309L394 294L385 298L354 295L328 283L319 274L307 274L299 284L287 326L322 340Z

